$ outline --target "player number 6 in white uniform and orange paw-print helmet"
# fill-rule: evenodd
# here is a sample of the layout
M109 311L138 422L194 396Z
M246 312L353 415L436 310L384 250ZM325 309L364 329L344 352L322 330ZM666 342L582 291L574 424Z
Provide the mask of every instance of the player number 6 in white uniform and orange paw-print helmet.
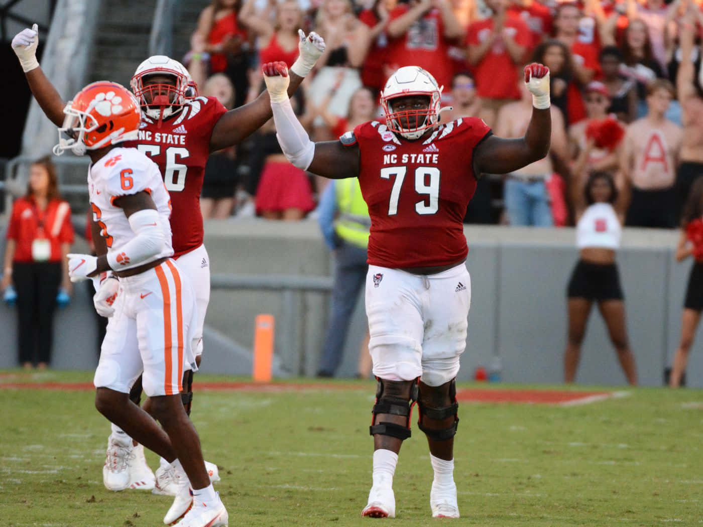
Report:
M69 254L69 275L73 282L101 281L93 301L110 317L93 379L96 408L190 482L192 490L186 486L176 495L164 523L226 526L227 511L181 403L183 372L196 368L191 339L198 314L191 282L170 257L169 193L153 161L120 145L138 135L139 104L120 84L101 81L79 91L64 113L54 153L70 149L91 158L88 185L100 255ZM129 400L139 375L161 427Z

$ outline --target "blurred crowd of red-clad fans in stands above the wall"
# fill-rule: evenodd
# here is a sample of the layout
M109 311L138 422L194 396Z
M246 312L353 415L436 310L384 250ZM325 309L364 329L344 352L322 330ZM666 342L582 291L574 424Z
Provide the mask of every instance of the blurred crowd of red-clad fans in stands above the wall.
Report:
M444 122L481 117L500 136L522 136L522 67L550 68L550 155L482 178L467 223L573 224L574 197L597 170L614 176L627 225L673 228L703 174L700 0L213 0L183 61L201 94L233 108L262 91L261 63L293 63L299 27L327 43L295 97L315 141L382 117L382 85L406 65L444 86ZM301 219L326 184L288 164L269 124L211 156L202 210Z

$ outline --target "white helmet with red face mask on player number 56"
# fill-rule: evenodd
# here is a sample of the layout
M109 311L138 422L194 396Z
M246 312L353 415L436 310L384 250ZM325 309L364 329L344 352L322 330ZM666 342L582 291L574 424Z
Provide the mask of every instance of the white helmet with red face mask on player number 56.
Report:
M145 82L147 77L156 74L174 77L174 84ZM154 55L137 67L129 85L146 115L152 119L165 119L183 108L190 77L186 67L178 60Z

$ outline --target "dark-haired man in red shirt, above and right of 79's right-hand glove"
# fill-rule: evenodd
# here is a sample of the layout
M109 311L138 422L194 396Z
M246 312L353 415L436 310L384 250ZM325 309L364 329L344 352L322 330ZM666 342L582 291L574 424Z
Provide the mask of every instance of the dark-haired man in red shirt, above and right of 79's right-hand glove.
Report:
M586 86L599 72L598 44L584 44L579 38L579 20L583 13L575 4L561 4L554 18L555 38L569 46L574 58L574 79L568 86L569 106L567 122L586 118L586 107L581 97L581 86Z

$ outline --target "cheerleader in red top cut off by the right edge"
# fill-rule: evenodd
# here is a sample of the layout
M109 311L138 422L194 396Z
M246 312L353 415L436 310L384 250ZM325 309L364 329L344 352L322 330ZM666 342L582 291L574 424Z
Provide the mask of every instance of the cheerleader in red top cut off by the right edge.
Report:
M681 236L676 247L676 261L693 256L695 263L688 276L686 298L681 315L681 340L673 358L669 386L681 384L688 363L688 352L693 344L703 310L703 178L691 186L681 218Z

